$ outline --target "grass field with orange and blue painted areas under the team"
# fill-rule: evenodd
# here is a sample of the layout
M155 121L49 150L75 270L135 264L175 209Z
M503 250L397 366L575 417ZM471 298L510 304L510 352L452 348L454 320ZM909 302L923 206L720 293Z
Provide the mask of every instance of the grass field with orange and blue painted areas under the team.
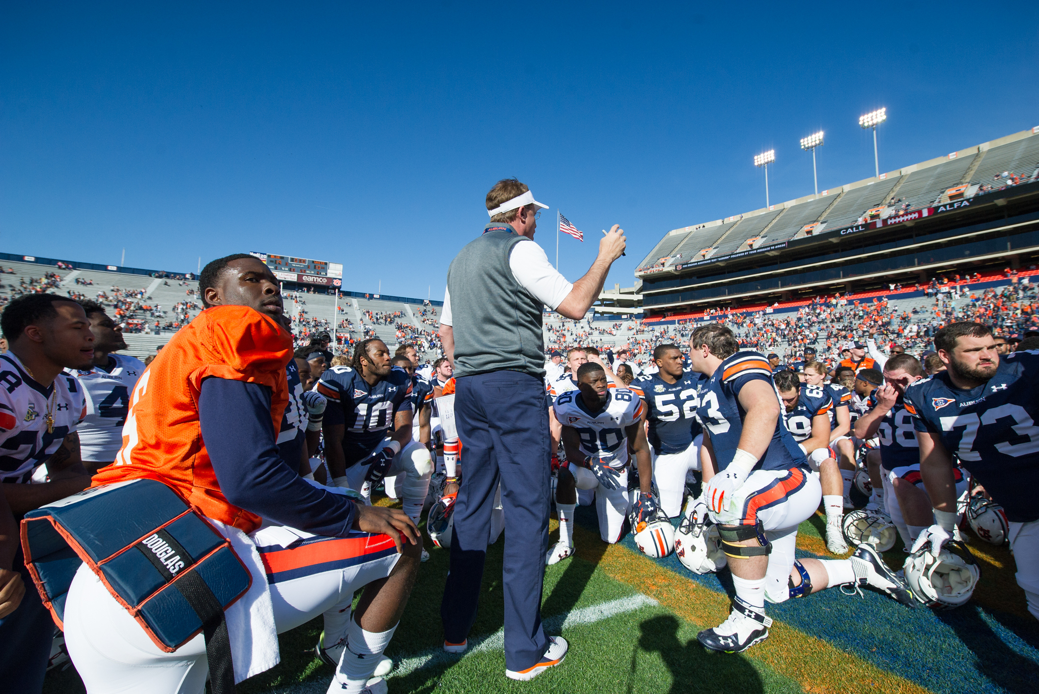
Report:
M382 500L387 503L389 500ZM553 520L553 528L555 528ZM832 558L819 516L802 524L803 556ZM507 529L506 529L506 532ZM556 532L553 532L555 539ZM390 691L559 692L1039 692L1039 624L1024 610L1007 548L970 536L982 584L970 604L951 612L910 610L867 591L838 589L769 606L770 638L743 655L704 650L696 633L724 619L728 573L698 577L672 555L654 561L627 536L598 538L594 510L582 508L577 556L545 573L541 614L547 631L570 642L566 661L530 683L505 677L501 629L504 539L488 549L480 612L463 657L442 643L439 604L448 553L431 548L387 655ZM901 564L896 546L888 563ZM282 663L242 683L244 694L323 694L331 668L314 658L321 619L281 636ZM45 692L84 691L75 671L52 672Z

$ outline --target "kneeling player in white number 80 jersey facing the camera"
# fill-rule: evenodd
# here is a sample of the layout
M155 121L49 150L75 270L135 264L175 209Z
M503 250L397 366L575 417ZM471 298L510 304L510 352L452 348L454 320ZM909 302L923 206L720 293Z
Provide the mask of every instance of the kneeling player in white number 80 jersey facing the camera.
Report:
M609 388L606 371L593 362L582 364L577 376L578 390L563 393L553 405L569 463L559 469L559 541L549 551L549 564L574 555L577 489L595 490L603 541L620 539L629 509L629 445L638 462L642 495L650 497L652 472L642 430L642 400L628 389Z

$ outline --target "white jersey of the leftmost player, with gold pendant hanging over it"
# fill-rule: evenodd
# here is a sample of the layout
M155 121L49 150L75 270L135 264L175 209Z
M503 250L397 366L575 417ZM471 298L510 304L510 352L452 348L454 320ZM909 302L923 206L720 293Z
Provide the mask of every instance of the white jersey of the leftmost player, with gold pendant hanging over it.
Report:
M50 432L48 410L54 418ZM33 469L58 450L85 416L75 377L60 373L44 388L14 353L0 354L0 482L28 482Z

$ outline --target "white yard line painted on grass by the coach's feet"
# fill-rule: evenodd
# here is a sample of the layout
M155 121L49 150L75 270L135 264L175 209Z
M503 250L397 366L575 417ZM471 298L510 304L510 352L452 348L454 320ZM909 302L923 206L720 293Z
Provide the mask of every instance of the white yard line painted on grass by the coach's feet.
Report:
M614 615L623 614L625 612L634 612L640 608L655 605L658 605L657 600L637 593L635 595L629 595L628 597L620 597L615 600L592 605L591 607L580 608L568 612L567 614L549 617L542 623L545 632L558 634L559 632L572 626L592 624L596 621L602 621L603 619L609 619ZM469 650L467 650L462 656L444 652L443 648L430 648L417 656L402 658L399 660L394 659L393 672L388 674L387 678L389 679L391 677L408 675L416 670L421 670L422 668L430 665L457 663L459 660L469 658L473 653L501 650L504 647L505 632L503 630L498 630L496 633L488 636L470 639ZM327 688L327 683L307 683L284 689L272 689L271 694L319 694L320 692L325 692Z

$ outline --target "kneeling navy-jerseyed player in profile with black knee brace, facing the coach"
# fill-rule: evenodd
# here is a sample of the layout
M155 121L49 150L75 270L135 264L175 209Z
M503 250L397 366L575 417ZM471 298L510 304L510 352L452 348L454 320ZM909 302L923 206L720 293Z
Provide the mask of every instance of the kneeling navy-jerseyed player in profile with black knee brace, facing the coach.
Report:
M736 586L732 612L700 632L699 642L712 650L746 650L768 638L772 620L765 615L766 599L781 603L832 586L869 585L912 605L870 544L850 559L796 558L798 525L815 513L822 489L780 417L768 359L737 350L723 325L698 327L690 340L692 368L708 376L696 410L705 433L703 466L718 471L703 499Z

